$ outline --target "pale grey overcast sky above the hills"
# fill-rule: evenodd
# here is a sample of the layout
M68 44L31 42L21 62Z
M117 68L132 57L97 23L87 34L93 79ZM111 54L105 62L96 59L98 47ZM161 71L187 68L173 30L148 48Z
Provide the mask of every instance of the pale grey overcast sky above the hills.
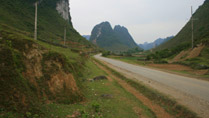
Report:
M136 43L176 35L204 0L70 0L73 26L81 35L109 21L128 28Z

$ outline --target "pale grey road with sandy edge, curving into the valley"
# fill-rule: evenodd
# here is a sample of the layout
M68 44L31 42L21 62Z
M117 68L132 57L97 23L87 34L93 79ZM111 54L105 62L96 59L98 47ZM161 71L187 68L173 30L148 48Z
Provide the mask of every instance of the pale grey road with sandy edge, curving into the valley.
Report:
M95 55L117 71L144 82L158 91L172 96L201 117L209 117L209 82L175 75L155 69L128 64L122 61Z

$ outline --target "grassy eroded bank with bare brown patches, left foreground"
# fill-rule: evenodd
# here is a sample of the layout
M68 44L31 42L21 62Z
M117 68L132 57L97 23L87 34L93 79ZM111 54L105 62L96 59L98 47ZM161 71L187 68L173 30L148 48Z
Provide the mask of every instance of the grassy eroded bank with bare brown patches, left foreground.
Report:
M41 117L42 104L83 100L84 58L68 48L0 28L0 55L0 117Z

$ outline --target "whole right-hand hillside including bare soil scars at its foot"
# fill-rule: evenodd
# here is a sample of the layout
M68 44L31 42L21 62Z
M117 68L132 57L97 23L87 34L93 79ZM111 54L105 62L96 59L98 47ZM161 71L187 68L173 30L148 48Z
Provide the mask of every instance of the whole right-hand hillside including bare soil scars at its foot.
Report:
M191 21L171 40L154 49L154 53L147 56L147 60L155 63L177 63L190 66L196 70L209 69L209 0L193 14L194 48L191 40ZM206 73L208 74L208 73Z

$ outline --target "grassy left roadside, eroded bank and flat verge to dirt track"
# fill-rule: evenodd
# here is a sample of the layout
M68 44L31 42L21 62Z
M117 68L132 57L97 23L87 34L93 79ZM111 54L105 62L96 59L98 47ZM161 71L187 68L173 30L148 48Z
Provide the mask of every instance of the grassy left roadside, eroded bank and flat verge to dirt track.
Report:
M94 81L97 76L108 75L87 55L34 41L13 30L1 29L0 42L0 67L4 68L0 70L0 118L156 118L116 81ZM37 64L42 68L38 70L43 73L40 77L33 69ZM32 73L27 73L30 69ZM48 83L52 78L56 83L56 76L65 78L62 75L73 76L75 83L71 80L72 85L63 85L61 91L53 93L51 90L62 86ZM68 88L71 86L77 86L78 91Z

